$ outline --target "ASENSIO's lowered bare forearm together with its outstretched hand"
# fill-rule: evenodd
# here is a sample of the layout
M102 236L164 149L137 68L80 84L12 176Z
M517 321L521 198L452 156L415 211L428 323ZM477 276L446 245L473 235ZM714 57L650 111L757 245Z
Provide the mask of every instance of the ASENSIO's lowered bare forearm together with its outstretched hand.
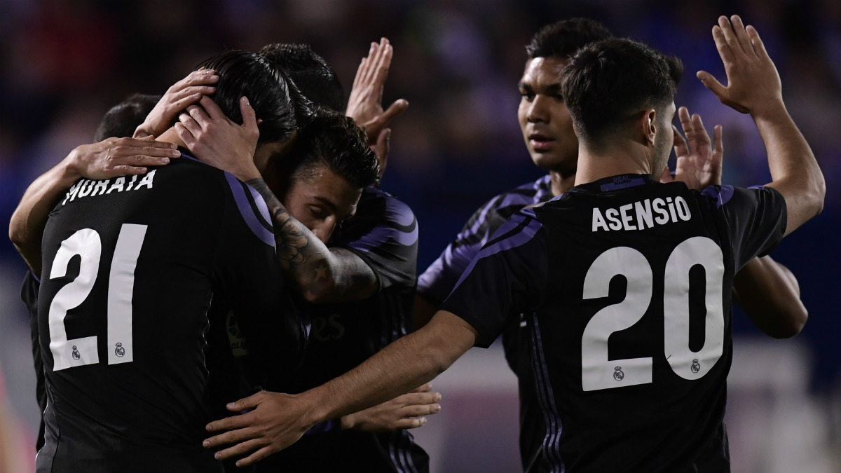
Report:
M298 395L261 391L230 403L229 411L248 412L209 423L207 430L216 435L204 441L204 448L232 444L216 452L215 458L247 455L236 465L252 465L294 444L316 423L358 412L411 385L429 382L473 347L478 336L463 319L438 311L426 327L398 338L325 385Z

